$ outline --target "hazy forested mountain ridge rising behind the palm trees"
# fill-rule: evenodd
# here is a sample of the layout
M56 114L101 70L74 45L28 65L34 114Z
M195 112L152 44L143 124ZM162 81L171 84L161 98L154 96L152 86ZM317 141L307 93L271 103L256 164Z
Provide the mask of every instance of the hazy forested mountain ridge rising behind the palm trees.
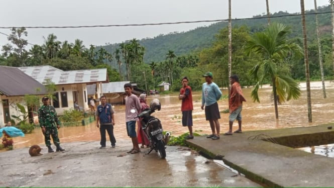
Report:
M324 6L318 8L320 34L329 36L331 31L330 26L330 7ZM314 13L313 10L306 11L306 14ZM289 26L292 30L290 37L301 37L301 16L290 14L287 12L278 12L271 15L271 22L279 22ZM274 18L273 18L274 17ZM267 16L257 15L249 20L233 20L232 27L246 25L251 32L263 31L267 26ZM166 59L168 50L173 50L177 56L187 55L193 51L200 51L212 44L215 34L228 26L228 22L218 22L207 27L199 27L188 32L175 32L167 35L159 35L154 38L139 40L139 43L145 47L144 62L151 63L159 62ZM315 16L306 16L306 30L309 41L316 39ZM119 43L110 44L107 46L97 47L104 48L109 53L114 54L116 48L119 48Z

